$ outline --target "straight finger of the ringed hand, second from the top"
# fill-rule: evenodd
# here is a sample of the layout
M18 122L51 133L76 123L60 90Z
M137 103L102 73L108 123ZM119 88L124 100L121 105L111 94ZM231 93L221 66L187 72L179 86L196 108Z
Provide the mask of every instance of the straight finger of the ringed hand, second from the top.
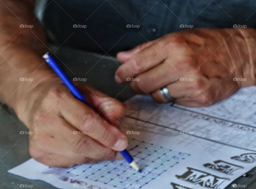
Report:
M161 52L161 47L156 44L155 47L149 46L135 54L129 61L122 64L115 73L117 83L127 83L127 78L137 76L150 68L162 63L167 57L166 51ZM161 52L161 53L160 53Z

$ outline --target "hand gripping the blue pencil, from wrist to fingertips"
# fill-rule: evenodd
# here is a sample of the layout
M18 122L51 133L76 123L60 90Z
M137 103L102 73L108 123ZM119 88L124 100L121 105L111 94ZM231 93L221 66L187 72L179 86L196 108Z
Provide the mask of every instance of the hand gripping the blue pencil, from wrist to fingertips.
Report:
M115 150L127 147L126 136L117 128L124 106L84 84L76 86L95 111L73 97L58 78L41 82L29 93L26 111L18 116L33 132L31 156L53 167L122 158Z

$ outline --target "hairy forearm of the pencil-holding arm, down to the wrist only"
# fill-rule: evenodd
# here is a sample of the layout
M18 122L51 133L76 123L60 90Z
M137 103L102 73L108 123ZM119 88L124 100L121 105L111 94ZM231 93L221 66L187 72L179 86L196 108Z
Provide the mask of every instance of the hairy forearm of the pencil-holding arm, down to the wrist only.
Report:
M0 2L0 98L19 117L28 91L53 76L46 64L42 64L46 39L33 12L34 0ZM21 82L20 78L33 78L33 81Z

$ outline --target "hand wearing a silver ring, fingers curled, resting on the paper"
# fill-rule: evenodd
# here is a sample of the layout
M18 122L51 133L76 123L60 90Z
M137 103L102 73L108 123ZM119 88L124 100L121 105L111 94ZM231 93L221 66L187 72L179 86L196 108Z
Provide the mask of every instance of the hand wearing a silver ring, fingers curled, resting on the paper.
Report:
M136 93L150 93L165 102L159 89L167 87L175 102L207 106L241 87L255 85L254 29L192 29L168 34L130 51L119 52L123 64L115 73ZM130 80L130 79L128 79Z

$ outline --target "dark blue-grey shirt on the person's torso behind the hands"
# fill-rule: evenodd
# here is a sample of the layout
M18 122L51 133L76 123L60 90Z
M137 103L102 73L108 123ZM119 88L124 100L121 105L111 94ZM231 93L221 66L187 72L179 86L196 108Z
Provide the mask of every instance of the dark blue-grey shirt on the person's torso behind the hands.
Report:
M191 27L255 27L255 11L255 0L55 0L43 22L54 43L115 55Z

